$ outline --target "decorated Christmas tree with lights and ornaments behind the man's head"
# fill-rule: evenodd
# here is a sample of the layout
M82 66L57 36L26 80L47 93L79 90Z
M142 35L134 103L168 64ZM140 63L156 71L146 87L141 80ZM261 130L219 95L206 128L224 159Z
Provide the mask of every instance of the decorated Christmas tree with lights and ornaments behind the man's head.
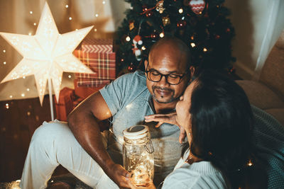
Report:
M118 74L143 68L154 42L183 40L201 69L231 69L234 28L224 0L125 0L131 4L116 33Z

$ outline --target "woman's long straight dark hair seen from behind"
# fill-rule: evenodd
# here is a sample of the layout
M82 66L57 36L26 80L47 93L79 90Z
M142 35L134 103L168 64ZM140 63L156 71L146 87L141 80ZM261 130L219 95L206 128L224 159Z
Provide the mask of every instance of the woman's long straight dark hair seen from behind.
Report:
M253 113L249 99L236 82L204 71L192 89L190 151L224 173L232 188L251 158Z

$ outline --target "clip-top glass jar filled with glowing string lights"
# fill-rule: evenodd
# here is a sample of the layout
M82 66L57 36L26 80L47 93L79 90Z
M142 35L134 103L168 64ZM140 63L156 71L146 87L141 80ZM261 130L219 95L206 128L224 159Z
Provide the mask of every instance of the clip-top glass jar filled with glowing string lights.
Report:
M146 186L153 181L154 155L149 128L135 125L124 130L124 168L131 173L136 186Z

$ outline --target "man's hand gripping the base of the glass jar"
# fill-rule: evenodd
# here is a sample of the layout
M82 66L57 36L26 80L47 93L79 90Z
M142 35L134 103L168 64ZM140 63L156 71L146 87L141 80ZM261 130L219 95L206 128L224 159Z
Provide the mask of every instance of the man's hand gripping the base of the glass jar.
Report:
M109 178L111 178L111 180L114 181L114 183L116 183L119 188L131 188L129 182L126 181L126 178L130 177L130 173L126 171L121 165L113 164L112 166L110 166L107 172Z

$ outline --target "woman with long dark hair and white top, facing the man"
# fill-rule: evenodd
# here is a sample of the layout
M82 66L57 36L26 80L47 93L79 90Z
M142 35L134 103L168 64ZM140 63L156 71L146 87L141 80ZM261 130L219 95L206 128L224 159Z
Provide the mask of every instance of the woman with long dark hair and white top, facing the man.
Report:
M188 139L163 188L266 188L266 179L255 181L251 105L233 80L200 74L180 97L176 113L146 116L152 121L178 125L180 137Z

